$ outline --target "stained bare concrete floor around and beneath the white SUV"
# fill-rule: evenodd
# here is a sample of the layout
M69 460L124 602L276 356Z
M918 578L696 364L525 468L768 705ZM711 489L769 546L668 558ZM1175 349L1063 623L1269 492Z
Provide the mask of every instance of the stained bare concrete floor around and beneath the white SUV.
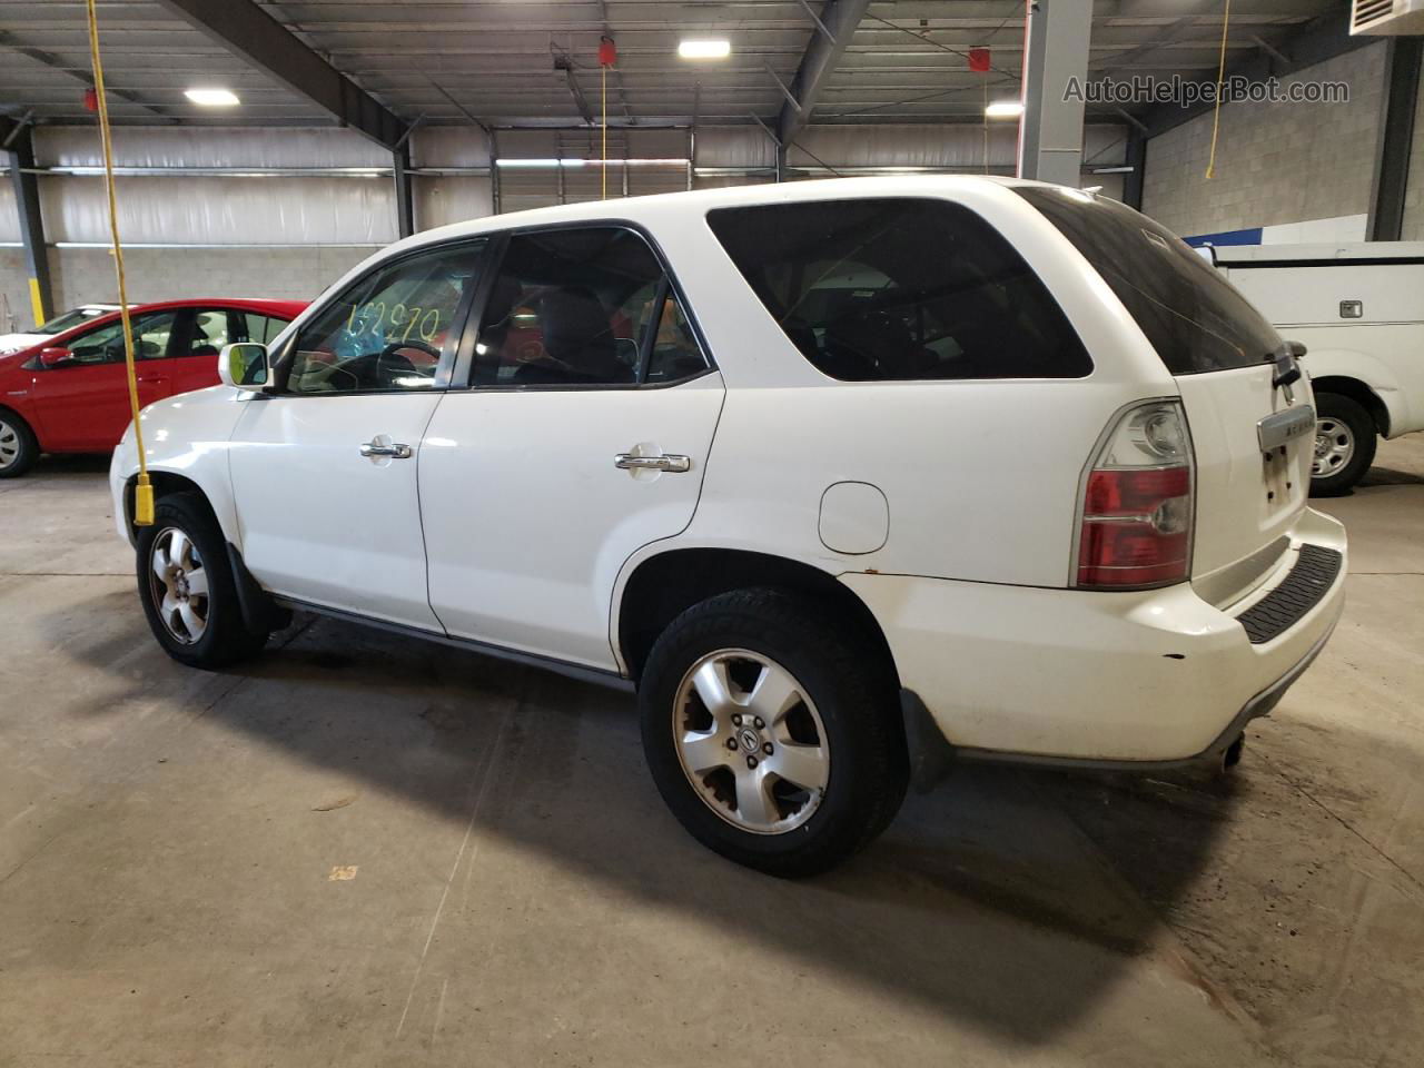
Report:
M104 461L0 483L0 1065L1417 1065L1424 439L1223 780L964 768L780 883L631 701L298 619L169 662Z

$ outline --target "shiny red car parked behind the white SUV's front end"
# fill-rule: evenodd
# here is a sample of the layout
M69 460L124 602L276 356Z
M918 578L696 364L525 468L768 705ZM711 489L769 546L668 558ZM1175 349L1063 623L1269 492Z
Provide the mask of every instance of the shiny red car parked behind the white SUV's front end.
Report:
M271 342L305 300L165 300L130 309L138 403L218 384L229 342ZM24 474L40 453L112 449L128 426L124 333L118 312L0 356L0 478Z

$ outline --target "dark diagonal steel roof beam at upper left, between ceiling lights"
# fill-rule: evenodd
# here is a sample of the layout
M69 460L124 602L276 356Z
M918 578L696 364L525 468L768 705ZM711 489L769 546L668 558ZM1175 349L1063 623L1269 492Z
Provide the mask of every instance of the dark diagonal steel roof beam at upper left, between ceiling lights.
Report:
M158 0L232 54L305 97L343 127L394 150L406 122L298 40L252 0Z

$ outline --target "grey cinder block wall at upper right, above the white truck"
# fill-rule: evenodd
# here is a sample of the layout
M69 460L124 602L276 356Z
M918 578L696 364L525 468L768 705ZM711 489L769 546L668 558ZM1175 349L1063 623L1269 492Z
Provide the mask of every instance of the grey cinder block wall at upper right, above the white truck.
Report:
M1222 107L1212 181L1205 178L1210 114L1152 138L1142 209L1178 234L1367 212L1384 51L1380 41L1284 80L1346 81L1349 104Z

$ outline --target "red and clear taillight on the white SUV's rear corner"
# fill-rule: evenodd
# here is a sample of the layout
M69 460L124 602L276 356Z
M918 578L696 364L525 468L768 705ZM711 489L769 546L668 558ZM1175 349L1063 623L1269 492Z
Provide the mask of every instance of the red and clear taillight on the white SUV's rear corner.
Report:
M1084 483L1079 588L1141 590L1186 580L1192 464L1179 402L1153 400L1118 417Z

